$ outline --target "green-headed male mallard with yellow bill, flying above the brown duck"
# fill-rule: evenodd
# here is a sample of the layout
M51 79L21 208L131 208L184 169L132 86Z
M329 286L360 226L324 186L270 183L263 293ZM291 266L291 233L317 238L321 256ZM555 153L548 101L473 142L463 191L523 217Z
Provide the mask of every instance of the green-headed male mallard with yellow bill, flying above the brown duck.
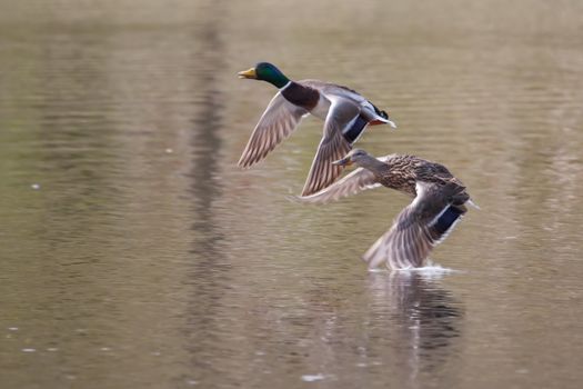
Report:
M291 81L268 62L241 71L239 77L268 81L280 90L259 119L239 160L240 167L248 168L265 158L309 113L325 121L302 196L328 187L342 173L343 167L331 162L352 149L366 124L396 127L386 112L345 87L318 80Z

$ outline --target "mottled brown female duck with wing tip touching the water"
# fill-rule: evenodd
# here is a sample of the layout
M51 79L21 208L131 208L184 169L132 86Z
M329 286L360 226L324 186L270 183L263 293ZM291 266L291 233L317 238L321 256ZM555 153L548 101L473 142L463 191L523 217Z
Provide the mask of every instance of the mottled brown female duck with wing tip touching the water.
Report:
M422 266L432 248L448 237L468 211L464 205L475 207L462 182L440 163L413 156L374 158L358 149L333 163L355 163L360 168L318 193L300 197L300 200L326 202L380 186L414 197L391 229L364 255L369 268L383 261L393 269Z

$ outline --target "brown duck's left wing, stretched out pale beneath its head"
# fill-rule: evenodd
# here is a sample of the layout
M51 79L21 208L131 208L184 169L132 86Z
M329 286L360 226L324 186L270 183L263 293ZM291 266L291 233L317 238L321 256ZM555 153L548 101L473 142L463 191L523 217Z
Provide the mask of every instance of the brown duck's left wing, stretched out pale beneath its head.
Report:
M386 156L378 159L386 162L392 156ZM370 170L358 168L341 180L332 183L330 187L310 196L298 196L295 199L301 202L325 203L329 201L335 201L343 197L356 194L363 190L379 188L381 186L382 184L379 183L376 177L374 177Z

